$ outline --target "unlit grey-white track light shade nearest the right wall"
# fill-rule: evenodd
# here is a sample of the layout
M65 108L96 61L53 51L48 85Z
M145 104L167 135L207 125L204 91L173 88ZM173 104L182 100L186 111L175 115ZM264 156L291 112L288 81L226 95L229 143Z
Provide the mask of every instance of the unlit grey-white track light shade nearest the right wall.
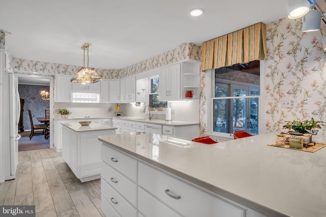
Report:
M311 10L302 18L302 32L314 32L320 29L321 12Z

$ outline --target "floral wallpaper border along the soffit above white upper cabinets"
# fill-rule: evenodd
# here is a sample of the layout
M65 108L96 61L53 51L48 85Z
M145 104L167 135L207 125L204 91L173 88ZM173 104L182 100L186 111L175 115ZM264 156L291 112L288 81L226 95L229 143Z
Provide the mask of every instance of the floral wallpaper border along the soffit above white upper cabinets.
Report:
M161 66L176 63L186 59L201 59L200 47L192 43L184 43L177 48L141 61L124 69L96 69L103 78L117 79L142 73ZM31 74L37 72L40 75L66 74L74 75L80 66L69 66L55 63L44 63L35 60L13 58L13 68L16 73Z

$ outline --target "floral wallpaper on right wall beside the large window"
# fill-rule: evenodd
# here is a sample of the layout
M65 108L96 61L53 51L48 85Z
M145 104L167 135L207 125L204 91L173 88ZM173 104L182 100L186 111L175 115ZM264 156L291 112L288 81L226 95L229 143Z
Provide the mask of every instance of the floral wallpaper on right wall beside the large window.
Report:
M301 19L266 25L265 127L279 131L287 120L326 121L326 55L321 32L302 33ZM293 108L282 108L283 99ZM326 131L322 132L323 134Z

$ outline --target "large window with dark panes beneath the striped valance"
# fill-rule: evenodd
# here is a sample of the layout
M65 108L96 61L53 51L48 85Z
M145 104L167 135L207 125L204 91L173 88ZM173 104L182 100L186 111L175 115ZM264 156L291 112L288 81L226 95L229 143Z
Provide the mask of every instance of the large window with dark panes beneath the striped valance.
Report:
M247 66L248 64L240 67ZM253 73L248 74L234 68L235 66L215 70L212 132L233 134L244 130L257 135L260 78Z

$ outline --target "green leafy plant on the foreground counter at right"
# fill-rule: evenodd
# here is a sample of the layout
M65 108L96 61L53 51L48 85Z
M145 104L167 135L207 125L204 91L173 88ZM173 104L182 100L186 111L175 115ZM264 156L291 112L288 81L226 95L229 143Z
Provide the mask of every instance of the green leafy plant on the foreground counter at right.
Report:
M283 126L283 129L293 129L295 132L298 133L307 133L313 130L313 128L319 128L321 129L321 126L324 125L324 121L317 120L315 121L314 118L311 118L311 120L293 120L293 121L286 121L286 125Z

